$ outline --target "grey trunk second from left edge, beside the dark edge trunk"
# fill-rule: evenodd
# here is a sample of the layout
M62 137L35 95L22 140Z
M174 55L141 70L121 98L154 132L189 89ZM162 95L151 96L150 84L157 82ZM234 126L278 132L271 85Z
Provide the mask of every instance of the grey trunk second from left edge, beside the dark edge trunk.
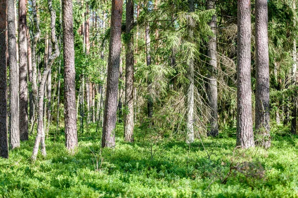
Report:
M19 112L18 112L18 69L16 60L16 37L14 24L14 0L7 1L7 24L8 24L8 57L10 76L10 148L20 147Z

